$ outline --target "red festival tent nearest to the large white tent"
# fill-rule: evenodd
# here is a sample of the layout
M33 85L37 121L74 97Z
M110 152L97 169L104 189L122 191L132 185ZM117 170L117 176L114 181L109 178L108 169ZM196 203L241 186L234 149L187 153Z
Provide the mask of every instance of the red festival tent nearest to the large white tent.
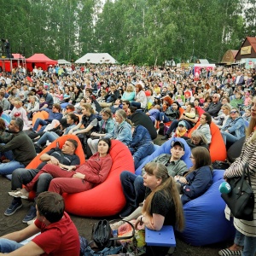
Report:
M49 65L56 64L58 64L58 61L53 61L44 54L34 54L26 59L26 68L28 71L32 71L35 66L41 67L43 70L46 70Z

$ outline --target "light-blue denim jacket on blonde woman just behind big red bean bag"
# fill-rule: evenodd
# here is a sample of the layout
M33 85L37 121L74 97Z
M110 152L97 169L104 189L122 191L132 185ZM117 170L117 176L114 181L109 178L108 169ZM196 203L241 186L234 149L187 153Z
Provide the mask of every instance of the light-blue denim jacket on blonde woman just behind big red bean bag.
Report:
M124 143L126 146L131 143L132 135L131 135L131 125L129 125L126 121L123 121L121 124L116 124L112 132L107 133L105 137L119 140Z

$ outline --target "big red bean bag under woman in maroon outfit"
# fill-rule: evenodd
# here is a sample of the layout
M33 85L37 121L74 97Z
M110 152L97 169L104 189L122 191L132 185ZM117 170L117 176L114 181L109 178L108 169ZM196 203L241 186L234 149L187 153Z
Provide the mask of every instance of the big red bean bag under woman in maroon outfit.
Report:
M125 196L120 183L120 173L134 173L134 162L125 144L113 140L110 149L113 159L107 179L88 191L63 194L67 212L83 217L113 216L125 207Z

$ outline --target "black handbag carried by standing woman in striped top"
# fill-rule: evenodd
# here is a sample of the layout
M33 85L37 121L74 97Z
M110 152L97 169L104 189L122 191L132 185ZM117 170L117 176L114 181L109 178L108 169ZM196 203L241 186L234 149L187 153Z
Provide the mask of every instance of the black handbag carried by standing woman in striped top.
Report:
M248 182L245 180L247 174ZM254 193L251 186L251 178L248 164L245 164L242 176L233 177L228 181L231 191L229 194L221 194L235 218L253 220Z

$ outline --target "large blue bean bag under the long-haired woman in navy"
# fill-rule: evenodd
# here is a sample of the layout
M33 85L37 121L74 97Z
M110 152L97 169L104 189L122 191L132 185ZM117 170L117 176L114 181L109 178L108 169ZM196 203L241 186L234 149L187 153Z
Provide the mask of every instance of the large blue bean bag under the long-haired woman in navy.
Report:
M193 246L205 246L235 237L235 227L225 218L225 202L218 191L224 182L223 174L224 170L214 171L213 183L207 192L183 206L185 229L178 236Z

